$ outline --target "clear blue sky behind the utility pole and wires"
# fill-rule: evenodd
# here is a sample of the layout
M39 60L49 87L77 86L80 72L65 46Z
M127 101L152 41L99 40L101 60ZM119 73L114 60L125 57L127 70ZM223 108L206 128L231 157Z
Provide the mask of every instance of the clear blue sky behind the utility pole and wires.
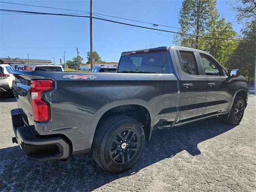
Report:
M72 10L90 11L89 0L1 0L6 2L48 6ZM235 3L235 1L231 1ZM93 0L92 12L116 17L140 20L144 22L179 27L178 13L181 0ZM24 10L35 12L51 12L77 14L83 12L39 8L0 3L1 9ZM217 8L220 16L233 24L234 30L240 33L242 26L237 24L235 13L230 8L230 1L218 0ZM50 59L55 63L72 60L77 55L86 59L90 50L90 19L68 16L28 15L0 12L0 57ZM110 20L153 27L152 24L127 21L102 16ZM112 22L93 20L93 50L97 51L103 61L118 62L124 51L140 50L158 46L175 45L173 34L152 33L145 29L123 26ZM154 27L153 27L154 28ZM177 31L176 28L157 26L155 28ZM158 31L156 31L158 32Z

